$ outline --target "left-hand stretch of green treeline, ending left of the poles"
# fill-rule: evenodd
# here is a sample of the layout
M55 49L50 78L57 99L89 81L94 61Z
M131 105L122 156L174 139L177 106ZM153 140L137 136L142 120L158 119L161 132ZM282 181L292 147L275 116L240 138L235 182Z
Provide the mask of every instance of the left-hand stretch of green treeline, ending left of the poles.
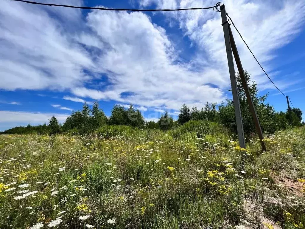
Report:
M137 128L168 130L173 128L174 120L166 111L158 122L145 122L143 115L139 109L134 108L133 104L130 104L127 109L121 105L114 105L111 110L111 116L107 118L104 111L99 108L99 103L94 101L92 109L85 103L81 111L72 111L72 114L67 117L63 125L59 124L58 119L53 116L49 119L48 125L33 126L29 124L25 127L19 126L5 130L0 132L0 134L90 133L105 125L127 125Z

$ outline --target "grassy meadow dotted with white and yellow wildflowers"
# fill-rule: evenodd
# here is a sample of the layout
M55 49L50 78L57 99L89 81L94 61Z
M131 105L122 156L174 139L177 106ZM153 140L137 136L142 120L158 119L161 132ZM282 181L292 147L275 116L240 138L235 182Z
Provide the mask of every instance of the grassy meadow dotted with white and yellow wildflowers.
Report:
M0 228L305 228L305 128L215 128L0 135Z

